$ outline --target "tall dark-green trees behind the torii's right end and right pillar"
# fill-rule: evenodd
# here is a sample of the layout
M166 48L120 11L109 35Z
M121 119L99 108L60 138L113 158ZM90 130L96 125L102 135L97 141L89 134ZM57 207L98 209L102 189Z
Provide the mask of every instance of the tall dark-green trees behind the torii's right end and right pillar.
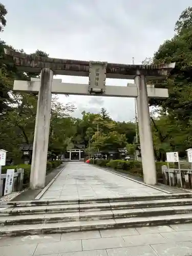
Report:
M159 108L158 118L152 118L156 158L165 160L167 151L179 151L181 156L192 145L192 7L185 9L175 25L175 35L166 40L150 63L176 62L171 75L155 81L158 88L167 88L167 99L150 99ZM148 60L145 60L145 62Z

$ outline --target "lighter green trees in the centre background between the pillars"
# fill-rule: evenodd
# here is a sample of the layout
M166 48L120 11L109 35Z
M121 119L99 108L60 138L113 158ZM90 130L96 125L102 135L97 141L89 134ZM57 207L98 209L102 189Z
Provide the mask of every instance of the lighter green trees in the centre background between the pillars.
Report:
M82 112L82 119L76 119L76 135L73 141L83 142L86 152L117 150L127 142L133 143L135 125L130 122L116 122L101 109L100 114Z

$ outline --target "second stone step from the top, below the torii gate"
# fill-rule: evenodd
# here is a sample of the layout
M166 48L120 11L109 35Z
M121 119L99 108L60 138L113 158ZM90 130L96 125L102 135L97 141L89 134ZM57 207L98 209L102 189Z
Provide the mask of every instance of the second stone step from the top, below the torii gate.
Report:
M63 212L83 212L98 210L141 209L167 206L192 205L192 198L160 199L149 201L111 202L111 203L83 203L64 205L42 205L25 207L4 207L0 210L0 216L59 214Z

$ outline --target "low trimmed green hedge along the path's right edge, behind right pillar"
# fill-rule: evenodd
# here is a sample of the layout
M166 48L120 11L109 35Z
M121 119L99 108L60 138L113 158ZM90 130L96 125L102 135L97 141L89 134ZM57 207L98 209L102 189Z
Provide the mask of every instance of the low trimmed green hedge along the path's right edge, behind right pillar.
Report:
M90 160L90 163L97 164L99 166L111 167L116 170L122 170L122 172L130 173L132 175L143 177L142 163L139 161L125 161L125 160ZM156 162L156 170L158 179L162 179L161 166L166 165L165 162Z

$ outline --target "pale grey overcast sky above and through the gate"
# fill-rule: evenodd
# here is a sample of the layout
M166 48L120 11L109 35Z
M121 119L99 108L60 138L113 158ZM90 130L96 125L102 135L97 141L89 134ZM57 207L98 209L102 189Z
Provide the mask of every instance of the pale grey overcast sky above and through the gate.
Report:
M37 49L50 57L141 63L174 34L180 13L191 0L0 0L7 10L1 38L26 53ZM57 76L63 82L87 83L87 77ZM126 86L129 80L106 79ZM74 116L106 108L118 121L134 120L134 99L60 95L72 102Z

